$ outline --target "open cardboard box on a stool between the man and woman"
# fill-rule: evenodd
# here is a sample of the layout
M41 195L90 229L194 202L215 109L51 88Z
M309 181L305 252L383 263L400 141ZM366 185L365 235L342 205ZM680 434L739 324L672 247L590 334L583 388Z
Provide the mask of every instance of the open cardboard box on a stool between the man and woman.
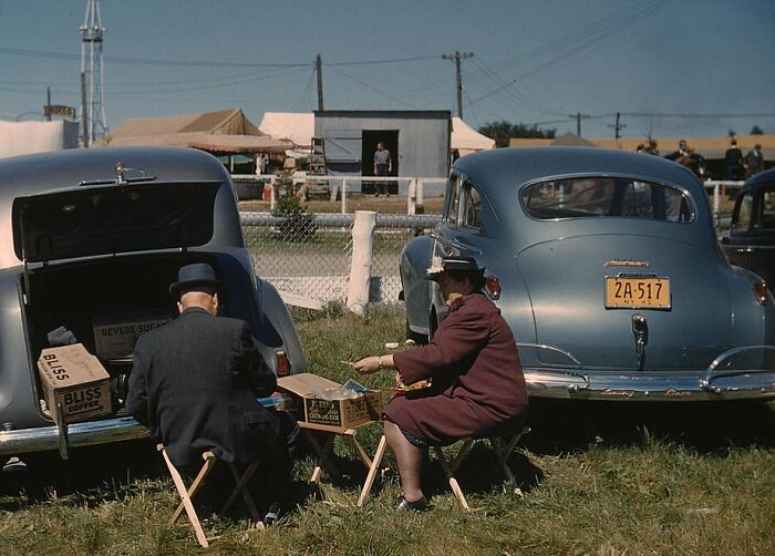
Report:
M308 372L282 377L278 379L277 385L301 398L304 408L303 420L308 423L350 429L379 421L382 415L380 390L359 389L354 399L326 400L317 393L340 389L342 385Z

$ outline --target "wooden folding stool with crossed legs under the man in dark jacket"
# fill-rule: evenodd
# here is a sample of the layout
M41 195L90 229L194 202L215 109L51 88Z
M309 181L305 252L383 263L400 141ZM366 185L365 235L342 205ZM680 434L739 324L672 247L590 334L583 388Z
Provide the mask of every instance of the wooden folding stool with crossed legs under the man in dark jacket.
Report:
M208 537L205 535L205 531L202 527L199 517L196 515L196 509L194 508L194 503L192 502L192 498L197 493L199 487L204 484L205 478L210 473L210 471L213 471L213 467L215 466L216 462L218 462L218 459L215 456L215 454L213 454L213 452L208 451L203 453L202 459L205 463L202 465L199 473L197 473L192 484L188 487L186 487L185 483L183 482L183 477L180 476L180 473L177 471L172 460L169 460L166 450L164 450L164 445L158 444L156 449L159 452L162 452L164 462L167 464L167 469L169 470L169 475L172 475L173 482L175 483L175 488L177 488L177 493L180 495L180 503L177 505L177 508L169 518L169 525L174 524L185 509L186 515L188 516L188 521L194 527L196 539L202 546L207 548L209 546L209 542L215 540L218 537ZM231 504L234 504L234 502L237 500L237 496L241 495L242 501L248 507L248 512L250 512L250 516L256 523L257 528L264 529L261 516L259 515L258 509L256 508L256 504L254 503L252 496L250 496L250 493L247 491L248 483L250 482L252 475L256 473L256 470L258 469L258 463L249 464L242 473L239 472L237 465L235 465L234 463L229 463L228 465L229 470L231 471L231 475L234 476L235 488L229 495L229 498L224 504L224 507L221 508L220 513L225 513L229 507L231 507Z

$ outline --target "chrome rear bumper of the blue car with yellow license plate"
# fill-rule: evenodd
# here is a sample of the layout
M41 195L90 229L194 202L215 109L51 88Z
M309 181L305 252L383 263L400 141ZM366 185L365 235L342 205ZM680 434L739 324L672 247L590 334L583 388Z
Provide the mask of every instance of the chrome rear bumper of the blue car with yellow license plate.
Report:
M567 351L544 344L518 343L566 364L524 365L534 398L618 401L767 400L775 398L775 346L732 348L699 372L588 370ZM529 359L529 358L528 358Z

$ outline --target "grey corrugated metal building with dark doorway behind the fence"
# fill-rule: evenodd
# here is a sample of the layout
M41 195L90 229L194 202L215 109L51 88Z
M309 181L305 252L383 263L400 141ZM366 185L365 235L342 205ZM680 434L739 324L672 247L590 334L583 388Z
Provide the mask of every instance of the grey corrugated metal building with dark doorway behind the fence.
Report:
M329 174L373 176L374 151L384 143L399 177L445 177L450 172L448 111L316 111Z

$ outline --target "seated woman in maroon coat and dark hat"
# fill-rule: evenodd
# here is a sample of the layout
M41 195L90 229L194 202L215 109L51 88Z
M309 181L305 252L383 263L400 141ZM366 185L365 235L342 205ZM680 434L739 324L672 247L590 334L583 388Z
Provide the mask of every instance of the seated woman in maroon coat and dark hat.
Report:
M428 445L521 428L527 390L512 330L482 294L484 269L469 258L446 258L428 269L450 313L427 346L368 357L362 373L396 369L404 384L431 379L430 388L394 398L384 411L388 445L395 454L403 497L399 508L424 509L420 485Z

